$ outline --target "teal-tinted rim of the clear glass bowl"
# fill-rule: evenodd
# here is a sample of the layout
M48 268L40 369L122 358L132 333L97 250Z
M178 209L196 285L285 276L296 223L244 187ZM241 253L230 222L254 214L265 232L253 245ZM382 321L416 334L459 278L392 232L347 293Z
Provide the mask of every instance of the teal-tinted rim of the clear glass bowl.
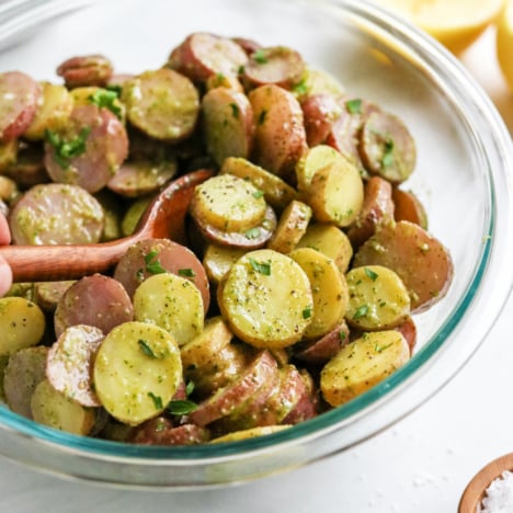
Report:
M11 0L8 1L3 9L4 12L11 12L12 18L9 22L16 22L16 30L26 29L35 21L41 22L41 18L48 15L54 16L57 12L60 13L65 5L67 7L81 7L82 4L100 3L98 0L81 0L73 2L62 2L61 0L50 0L47 3L47 11L35 11L38 18L36 20L30 16L24 19L23 9L25 4L31 3L26 0ZM37 1L41 5L44 2ZM441 45L435 43L429 36L421 33L418 29L411 26L407 22L400 21L394 14L388 13L385 9L372 4L367 1L358 0L298 0L298 4L318 4L326 9L335 9L345 11L349 16L355 19L365 19L366 23L379 29L384 33L384 37L392 38L399 47L407 52L410 56L421 59L424 66L434 72L434 80L436 81L436 73L447 72L451 70L451 84L465 86L463 91L458 92L458 99L452 98L453 102L458 100L460 115L469 124L470 127L486 125L488 133L478 133L472 129L472 137L477 147L481 151L483 166L487 170L483 171L487 183L489 186L489 213L488 218L483 223L483 244L480 253L479 261L477 262L474 271L472 278L468 283L464 296L459 303L454 307L453 315L449 316L445 322L438 328L436 333L426 342L415 356L408 362L403 367L394 373L385 381L378 384L364 395L355 398L351 402L328 411L315 419L299 423L290 429L251 440L241 442L230 442L215 445L201 445L201 446L183 446L183 447L151 447L121 444L117 442L103 441L91 438L87 436L77 436L64 432L58 432L50 428L37 424L31 420L22 418L7 408L0 408L0 429L18 431L30 437L38 438L47 444L55 445L65 451L79 453L84 457L98 457L100 459L115 459L118 461L137 461L138 464L168 463L170 465L187 465L191 461L219 461L233 457L247 457L250 453L262 453L272 451L276 445L294 445L299 441L305 442L312 438L323 437L333 431L340 430L349 424L357 422L363 415L373 410L381 409L394 396L397 396L404 387L409 386L414 378L431 368L440 355L445 351L447 340L451 340L457 334L459 319L463 315L468 315L475 310L478 304L483 304L483 295L486 295L490 286L482 286L485 277L488 283L495 282L493 287L493 298L487 311L490 312L487 322L483 323L478 330L477 337L480 339L472 351L466 355L465 361L459 363L457 368L453 368L446 379L436 387L432 387L424 399L432 397L445 383L448 381L464 363L478 349L486 334L492 328L497 320L502 307L504 306L513 284L513 270L506 265L508 260L513 255L512 237L508 235L508 225L504 225L504 219L497 215L499 209L501 212L506 209L511 210L513 203L512 185L509 176L499 174L499 171L492 166L489 160L491 150L486 148L494 148L497 158L503 162L503 168L508 167L513 169L513 157L511 152L511 138L505 129L500 115L497 113L495 107L490 99L474 81L469 73L447 50ZM53 4L55 10L49 9ZM9 9L11 8L11 11ZM16 11L18 10L18 11ZM67 10L67 9L65 9ZM1 13L0 9L0 13ZM42 13L43 12L43 13ZM0 24L0 32L1 32ZM0 37L1 43L1 37ZM445 77L447 78L447 77ZM454 90L453 90L454 93ZM493 145L493 146L488 146ZM495 162L497 163L497 162ZM511 232L512 230L510 230ZM501 237L497 237L498 233ZM493 263L493 270L489 265ZM493 272L492 272L493 271ZM499 281L499 276L501 280ZM492 280L493 278L493 280ZM480 287L481 285L481 287ZM400 415L390 420L391 422L399 420L399 418L411 412L414 408L419 407L424 401L419 401L417 404L408 407L408 411L403 411ZM377 431L386 428L381 425ZM376 432L377 432L376 431ZM375 433L376 433L375 432ZM372 433L372 434L375 434Z

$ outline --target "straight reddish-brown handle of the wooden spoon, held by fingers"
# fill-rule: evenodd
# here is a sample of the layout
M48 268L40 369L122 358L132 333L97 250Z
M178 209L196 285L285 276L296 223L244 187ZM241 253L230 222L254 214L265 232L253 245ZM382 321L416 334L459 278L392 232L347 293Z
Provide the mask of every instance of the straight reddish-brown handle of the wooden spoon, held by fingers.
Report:
M88 246L2 246L0 255L11 266L14 282L75 280L109 271L133 243L127 237Z

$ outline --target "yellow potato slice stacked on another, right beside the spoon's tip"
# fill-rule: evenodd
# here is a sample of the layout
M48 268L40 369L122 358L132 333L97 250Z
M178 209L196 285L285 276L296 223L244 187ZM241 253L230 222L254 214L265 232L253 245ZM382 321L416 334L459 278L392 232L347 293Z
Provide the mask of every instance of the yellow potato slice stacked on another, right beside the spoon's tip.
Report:
M213 176L196 186L191 214L224 231L247 231L265 217L263 192L232 174Z

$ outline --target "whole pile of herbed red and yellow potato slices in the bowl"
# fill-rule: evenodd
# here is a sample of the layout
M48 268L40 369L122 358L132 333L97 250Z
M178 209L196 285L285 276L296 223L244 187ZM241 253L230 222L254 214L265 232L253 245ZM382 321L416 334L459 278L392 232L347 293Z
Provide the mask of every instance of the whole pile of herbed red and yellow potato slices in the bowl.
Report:
M287 46L197 32L159 69L81 55L54 82L0 71L13 244L128 237L163 186L209 171L184 240L0 298L5 406L76 435L193 445L354 400L411 358L415 314L452 282L404 185L415 162L396 114Z

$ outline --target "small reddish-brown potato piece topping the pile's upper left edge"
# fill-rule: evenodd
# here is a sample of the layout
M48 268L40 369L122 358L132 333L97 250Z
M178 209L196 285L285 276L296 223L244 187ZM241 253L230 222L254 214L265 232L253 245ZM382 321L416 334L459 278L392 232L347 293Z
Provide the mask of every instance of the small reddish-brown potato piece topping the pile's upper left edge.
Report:
M112 62L103 55L84 55L66 59L57 68L67 88L105 86L112 77Z

